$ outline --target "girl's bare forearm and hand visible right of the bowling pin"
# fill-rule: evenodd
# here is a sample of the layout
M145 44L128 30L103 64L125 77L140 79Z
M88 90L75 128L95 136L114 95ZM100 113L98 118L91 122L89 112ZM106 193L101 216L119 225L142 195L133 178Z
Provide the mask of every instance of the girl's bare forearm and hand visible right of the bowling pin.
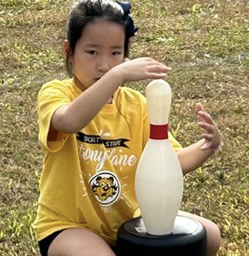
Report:
M183 174L200 167L217 149L223 145L222 136L212 117L202 105L196 105L200 122L198 126L204 130L203 138L177 152Z

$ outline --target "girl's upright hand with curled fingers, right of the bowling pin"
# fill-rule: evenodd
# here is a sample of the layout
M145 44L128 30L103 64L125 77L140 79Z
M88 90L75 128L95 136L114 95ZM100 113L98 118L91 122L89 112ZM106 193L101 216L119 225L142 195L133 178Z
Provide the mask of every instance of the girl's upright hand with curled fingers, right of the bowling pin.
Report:
M218 130L212 117L205 111L201 103L196 104L196 109L200 118L198 126L204 130L203 138L205 139L205 142L202 145L201 150L218 150L223 145L220 131Z

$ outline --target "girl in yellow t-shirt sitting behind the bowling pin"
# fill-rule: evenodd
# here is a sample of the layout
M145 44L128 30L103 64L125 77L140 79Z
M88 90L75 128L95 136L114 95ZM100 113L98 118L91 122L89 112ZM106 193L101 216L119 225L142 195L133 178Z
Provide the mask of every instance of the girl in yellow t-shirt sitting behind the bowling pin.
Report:
M162 79L170 68L152 58L124 59L136 28L129 3L79 0L64 41L72 79L53 80L38 95L39 141L45 151L34 222L42 256L114 256L117 230L134 217L134 174L148 139L145 98L125 82ZM170 135L186 174L221 144L212 118L197 104L204 138L186 148ZM209 254L220 233L198 219Z

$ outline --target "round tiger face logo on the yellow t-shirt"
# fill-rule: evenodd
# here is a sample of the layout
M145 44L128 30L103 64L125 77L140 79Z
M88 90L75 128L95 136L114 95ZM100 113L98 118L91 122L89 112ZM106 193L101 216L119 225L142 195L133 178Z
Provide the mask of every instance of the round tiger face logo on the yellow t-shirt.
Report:
M111 205L120 196L120 183L117 176L109 171L102 171L90 179L90 187L101 205Z

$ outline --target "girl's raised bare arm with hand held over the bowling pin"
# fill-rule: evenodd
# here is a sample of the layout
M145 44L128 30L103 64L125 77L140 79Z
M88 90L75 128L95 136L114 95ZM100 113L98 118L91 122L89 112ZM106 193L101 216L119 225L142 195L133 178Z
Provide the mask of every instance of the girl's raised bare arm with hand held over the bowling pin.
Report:
M56 110L52 117L52 128L66 133L75 133L95 117L124 82L162 79L169 70L170 68L162 63L147 57L125 61L109 70L71 104Z

